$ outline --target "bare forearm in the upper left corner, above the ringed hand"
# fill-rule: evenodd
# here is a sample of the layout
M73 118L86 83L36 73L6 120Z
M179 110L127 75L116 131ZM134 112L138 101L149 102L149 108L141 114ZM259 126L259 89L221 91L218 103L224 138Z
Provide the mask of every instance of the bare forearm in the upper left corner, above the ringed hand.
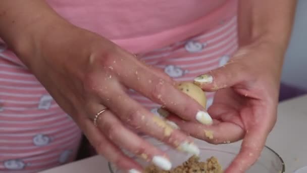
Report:
M50 26L56 25L54 21L61 20L42 0L0 1L0 37L17 54L35 50L36 37L50 32Z

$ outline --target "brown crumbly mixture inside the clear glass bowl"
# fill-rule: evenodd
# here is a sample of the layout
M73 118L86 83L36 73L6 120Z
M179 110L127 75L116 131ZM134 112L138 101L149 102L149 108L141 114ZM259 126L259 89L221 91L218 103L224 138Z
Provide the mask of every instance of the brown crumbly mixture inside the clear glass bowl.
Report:
M216 157L210 157L206 162L200 162L199 157L192 156L181 165L171 170L161 170L155 165L149 165L144 173L222 173L223 169Z

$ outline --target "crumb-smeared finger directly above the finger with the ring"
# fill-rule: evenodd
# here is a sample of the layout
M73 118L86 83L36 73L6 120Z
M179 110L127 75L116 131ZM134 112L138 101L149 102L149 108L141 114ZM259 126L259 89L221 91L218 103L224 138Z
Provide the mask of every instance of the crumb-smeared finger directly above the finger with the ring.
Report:
M123 123L137 128L138 131L163 141L181 151L196 155L199 154L198 147L192 143L187 135L178 129L172 128L163 119L143 108L139 103L124 93L121 90L121 86L114 84L110 88L109 93L112 93L112 97L107 96L110 99L103 104L112 110ZM103 98L105 96L101 95L100 97Z

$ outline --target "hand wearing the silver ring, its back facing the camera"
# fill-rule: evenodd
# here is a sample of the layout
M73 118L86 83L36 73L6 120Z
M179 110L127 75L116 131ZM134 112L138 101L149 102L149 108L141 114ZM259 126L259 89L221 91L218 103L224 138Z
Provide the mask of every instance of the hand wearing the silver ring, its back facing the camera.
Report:
M122 169L142 170L122 148L170 169L166 153L128 126L181 151L198 154L186 134L150 113L126 91L133 89L185 120L204 123L211 118L202 106L177 90L165 73L143 64L106 38L62 20L53 22L57 24L33 37L31 51L17 49L17 53L99 154ZM108 110L95 127L94 115L105 108Z

